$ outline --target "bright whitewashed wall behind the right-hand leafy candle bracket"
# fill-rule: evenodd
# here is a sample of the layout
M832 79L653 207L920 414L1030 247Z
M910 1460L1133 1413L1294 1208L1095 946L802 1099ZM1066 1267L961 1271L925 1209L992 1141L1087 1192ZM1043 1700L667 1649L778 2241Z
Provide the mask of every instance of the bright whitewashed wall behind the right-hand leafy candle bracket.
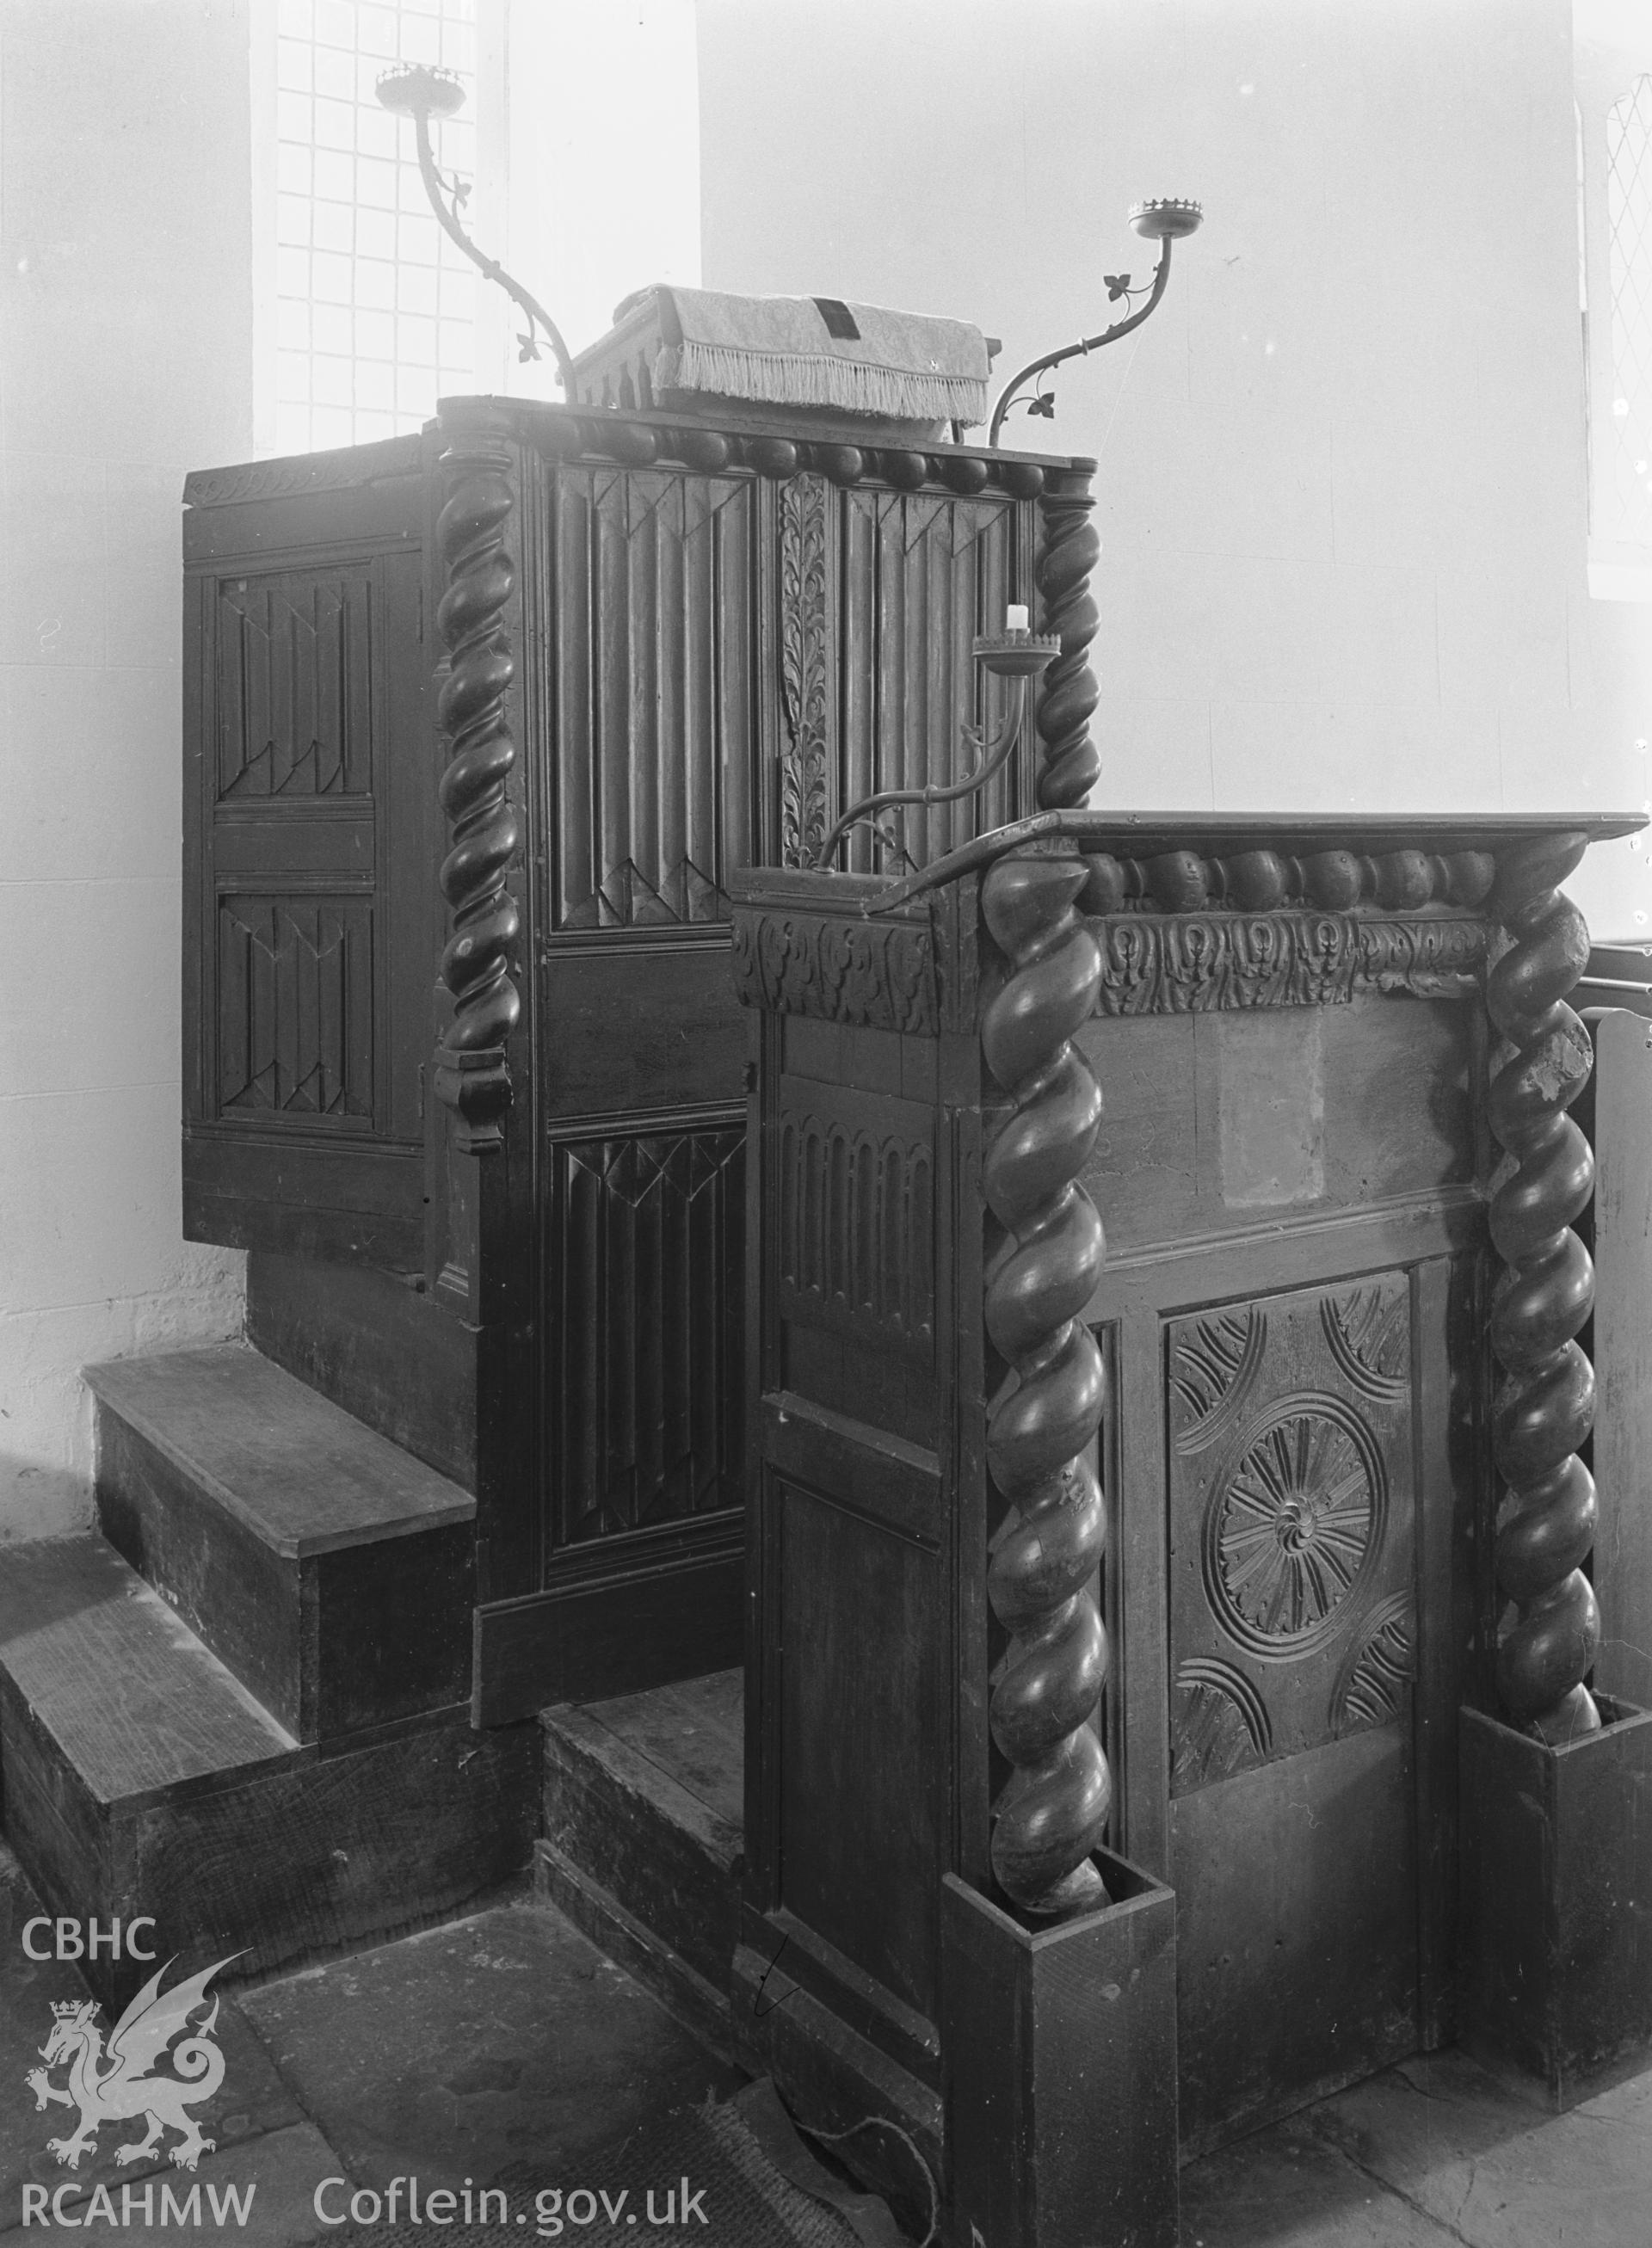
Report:
M1587 591L1569 0L701 0L708 288L975 319L1169 297L1027 443L1099 454L1095 803L1636 809ZM1652 906L1596 854L1598 926Z

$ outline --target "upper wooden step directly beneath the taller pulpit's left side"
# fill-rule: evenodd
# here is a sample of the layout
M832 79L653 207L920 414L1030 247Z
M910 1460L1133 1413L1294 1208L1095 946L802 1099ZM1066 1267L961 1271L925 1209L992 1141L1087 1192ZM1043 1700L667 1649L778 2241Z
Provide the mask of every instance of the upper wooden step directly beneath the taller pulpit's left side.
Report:
M106 1538L297 1740L468 1697L470 1493L240 1344L85 1378Z

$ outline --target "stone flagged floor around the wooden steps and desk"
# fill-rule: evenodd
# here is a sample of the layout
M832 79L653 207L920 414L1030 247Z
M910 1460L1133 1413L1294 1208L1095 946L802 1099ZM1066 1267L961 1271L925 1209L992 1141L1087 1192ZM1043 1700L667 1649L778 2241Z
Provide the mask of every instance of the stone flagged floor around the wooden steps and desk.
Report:
M337 2237L312 2203L328 2176L382 2192L416 2174L420 2194L463 2192L465 2178L481 2187L533 2160L578 2185L582 2160L623 2145L650 2185L650 2133L739 2082L560 1913L521 1895L227 1994L225 2082L205 2124L218 2147L193 2178L153 2160L119 2169L130 2127L106 2127L97 2160L70 2174L45 2149L67 2111L36 2113L22 2077L52 2003L85 1992L72 1967L25 1958L34 1911L0 1843L0 2248L49 2239L20 2228L22 2185L70 2176L88 2192L108 2185L115 2208L126 2185L139 2210L146 2185L157 2196L160 2183L256 2183L245 2228L207 2214L184 2235L247 2248ZM1191 2165L1182 2214L1182 2248L1652 2248L1652 2070L1549 2115L1463 2055L1405 2061ZM564 2241L602 2237L598 2223ZM715 2223L692 2237L717 2248ZM533 2226L524 2239L537 2239Z

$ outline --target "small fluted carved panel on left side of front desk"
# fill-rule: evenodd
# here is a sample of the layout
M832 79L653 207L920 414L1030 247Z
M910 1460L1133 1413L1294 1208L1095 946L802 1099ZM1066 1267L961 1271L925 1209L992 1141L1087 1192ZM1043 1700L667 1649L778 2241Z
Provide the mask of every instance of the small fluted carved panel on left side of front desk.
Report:
M787 1320L843 1326L928 1360L935 1351L931 1113L782 1081L778 1281Z

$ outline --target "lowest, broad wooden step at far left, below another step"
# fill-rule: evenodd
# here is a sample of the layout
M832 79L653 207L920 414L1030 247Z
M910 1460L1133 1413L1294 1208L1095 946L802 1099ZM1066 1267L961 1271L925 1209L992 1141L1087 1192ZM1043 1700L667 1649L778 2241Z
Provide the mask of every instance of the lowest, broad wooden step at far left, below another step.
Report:
M418 1720L292 1738L97 1535L0 1565L4 1828L52 1915L137 1913L193 1963L263 1976L447 1918L524 1870L537 1726ZM85 1965L124 2003L139 1963Z

